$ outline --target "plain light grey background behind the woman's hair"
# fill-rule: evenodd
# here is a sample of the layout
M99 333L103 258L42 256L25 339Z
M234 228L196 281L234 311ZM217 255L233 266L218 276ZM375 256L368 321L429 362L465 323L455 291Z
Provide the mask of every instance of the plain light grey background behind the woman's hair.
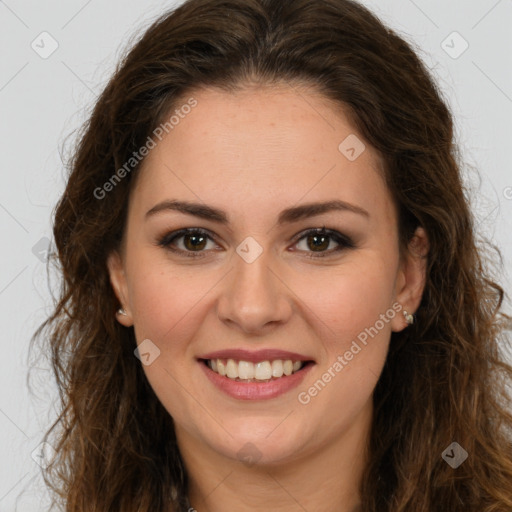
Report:
M57 396L44 362L28 360L28 345L50 312L44 260L64 187L59 149L86 119L130 37L176 3L0 1L0 512L44 510L47 500L35 460ZM505 275L497 277L509 292L512 2L362 3L413 42L438 77L479 230L502 250ZM26 385L29 366L37 396Z

